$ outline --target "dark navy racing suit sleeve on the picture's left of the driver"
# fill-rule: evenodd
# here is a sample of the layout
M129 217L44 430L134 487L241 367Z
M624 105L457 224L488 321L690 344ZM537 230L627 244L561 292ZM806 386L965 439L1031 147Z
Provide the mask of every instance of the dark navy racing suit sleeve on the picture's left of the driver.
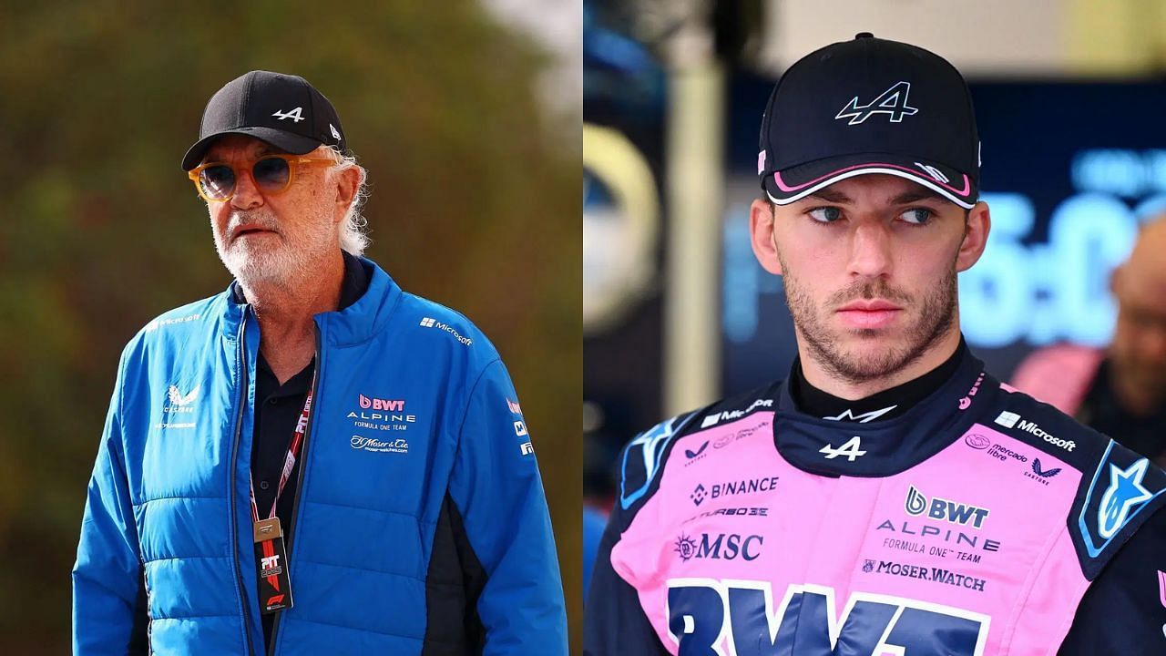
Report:
M583 656L667 656L640 607L639 596L611 566L611 547L626 528L619 501L607 519L591 570L591 589L583 608Z

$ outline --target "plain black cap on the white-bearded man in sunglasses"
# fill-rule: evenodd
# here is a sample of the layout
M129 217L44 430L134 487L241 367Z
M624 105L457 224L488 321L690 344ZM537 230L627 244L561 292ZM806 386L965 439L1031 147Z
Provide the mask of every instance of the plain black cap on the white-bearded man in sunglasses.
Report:
M206 103L198 141L182 158L190 170L224 134L246 134L302 155L319 146L346 151L340 117L323 93L297 75L254 70L227 82Z

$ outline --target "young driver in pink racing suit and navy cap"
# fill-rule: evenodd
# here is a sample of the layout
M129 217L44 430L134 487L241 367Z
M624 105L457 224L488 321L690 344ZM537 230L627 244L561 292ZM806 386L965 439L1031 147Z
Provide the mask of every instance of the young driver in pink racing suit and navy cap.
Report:
M1166 650L1166 475L961 339L978 169L967 85L932 53L859 34L785 74L751 232L799 357L628 445L585 654Z

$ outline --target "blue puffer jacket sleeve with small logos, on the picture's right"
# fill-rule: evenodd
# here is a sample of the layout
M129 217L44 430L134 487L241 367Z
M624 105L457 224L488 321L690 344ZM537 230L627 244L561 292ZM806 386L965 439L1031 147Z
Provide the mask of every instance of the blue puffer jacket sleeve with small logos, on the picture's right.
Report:
M547 498L518 396L500 361L475 383L449 493L486 580L483 656L567 654L567 613Z

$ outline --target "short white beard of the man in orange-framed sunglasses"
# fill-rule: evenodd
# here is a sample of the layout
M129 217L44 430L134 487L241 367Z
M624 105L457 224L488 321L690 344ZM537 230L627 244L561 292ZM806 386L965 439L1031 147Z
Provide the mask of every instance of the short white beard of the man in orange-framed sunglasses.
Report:
M239 212L241 216L244 212ZM247 224L276 230L279 236L244 237L229 247L215 232L215 250L227 271L245 289L278 287L292 289L319 271L323 261L338 247L336 226L328 217L305 222L298 235L288 235L266 208L246 212ZM231 217L229 230L236 217ZM248 239L262 240L252 243ZM279 243L274 243L278 239Z

